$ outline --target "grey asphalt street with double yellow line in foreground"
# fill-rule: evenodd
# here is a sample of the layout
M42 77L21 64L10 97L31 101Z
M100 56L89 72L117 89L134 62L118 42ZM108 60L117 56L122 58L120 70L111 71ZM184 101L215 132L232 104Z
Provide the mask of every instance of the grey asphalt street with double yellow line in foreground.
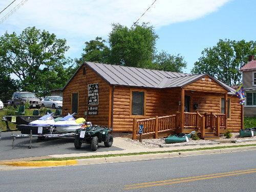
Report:
M5 170L0 171L0 190L255 191L255 159L256 151L248 151L147 161ZM237 170L242 171L234 172ZM134 185L136 183L142 184Z

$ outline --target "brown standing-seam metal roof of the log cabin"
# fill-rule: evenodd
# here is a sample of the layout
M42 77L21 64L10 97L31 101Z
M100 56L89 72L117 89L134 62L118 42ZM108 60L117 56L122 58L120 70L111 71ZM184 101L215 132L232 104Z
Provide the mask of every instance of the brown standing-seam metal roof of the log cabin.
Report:
M117 65L109 65L96 62L86 62L98 75L113 86L130 86L130 87L145 87L145 88L175 88L184 87L191 82L194 82L207 74L187 74L168 71L159 71L151 69L142 69L135 67L124 67ZM82 65L81 65L82 66ZM77 69L77 71L81 68ZM77 73L76 71L76 73ZM75 73L75 74L76 74ZM71 79L75 76L72 76ZM210 75L208 75L210 76ZM222 87L229 91L229 94L236 90L227 86L224 82L210 76ZM69 80L69 82L71 81ZM66 84L66 86L69 84ZM66 86L63 88L65 89Z

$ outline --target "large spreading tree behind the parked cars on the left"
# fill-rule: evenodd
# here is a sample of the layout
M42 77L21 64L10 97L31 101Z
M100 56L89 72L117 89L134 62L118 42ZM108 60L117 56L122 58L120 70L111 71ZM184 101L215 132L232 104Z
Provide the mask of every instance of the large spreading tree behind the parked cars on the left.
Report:
M41 78L52 78L52 73L66 62L69 49L66 39L35 27L28 27L20 35L7 32L0 37L0 62L9 74L15 74L24 91L47 89ZM45 88L44 88L45 87Z

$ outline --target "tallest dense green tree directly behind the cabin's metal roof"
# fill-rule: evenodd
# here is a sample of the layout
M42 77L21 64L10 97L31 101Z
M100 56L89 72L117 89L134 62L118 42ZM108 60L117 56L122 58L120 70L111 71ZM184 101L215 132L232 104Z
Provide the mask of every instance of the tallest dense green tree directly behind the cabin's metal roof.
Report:
M153 27L146 24L130 29L114 24L109 35L110 63L141 68L151 65L157 38Z

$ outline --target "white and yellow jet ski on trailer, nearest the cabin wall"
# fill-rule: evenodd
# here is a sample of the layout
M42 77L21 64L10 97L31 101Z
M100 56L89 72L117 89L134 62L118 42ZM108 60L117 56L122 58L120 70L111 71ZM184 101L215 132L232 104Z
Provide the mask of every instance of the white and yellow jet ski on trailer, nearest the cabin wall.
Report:
M84 118L74 118L75 113L68 114L63 117L59 121L53 123L52 125L55 127L55 131L59 133L72 133L75 132L76 129L79 129L81 125L86 122Z

